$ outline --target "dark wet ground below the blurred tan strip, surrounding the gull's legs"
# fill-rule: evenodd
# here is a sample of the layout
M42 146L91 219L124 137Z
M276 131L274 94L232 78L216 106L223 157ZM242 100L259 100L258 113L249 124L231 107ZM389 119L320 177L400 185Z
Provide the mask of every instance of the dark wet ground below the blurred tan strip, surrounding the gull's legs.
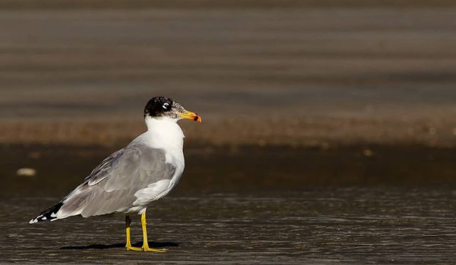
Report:
M150 244L125 251L123 217L28 224L113 151L1 148L1 262L445 263L456 256L456 150L187 146L185 174L150 208ZM20 167L37 170L19 177ZM140 242L138 218L133 242Z

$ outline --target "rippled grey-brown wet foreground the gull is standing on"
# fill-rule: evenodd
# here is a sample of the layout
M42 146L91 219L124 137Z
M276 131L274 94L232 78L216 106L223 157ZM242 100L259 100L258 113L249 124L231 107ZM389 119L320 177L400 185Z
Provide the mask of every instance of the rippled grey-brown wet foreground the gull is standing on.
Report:
M28 224L58 198L0 204L1 262L303 264L437 263L456 259L456 190L319 188L167 197L148 211L152 246L125 251L123 217ZM133 242L140 244L138 217Z

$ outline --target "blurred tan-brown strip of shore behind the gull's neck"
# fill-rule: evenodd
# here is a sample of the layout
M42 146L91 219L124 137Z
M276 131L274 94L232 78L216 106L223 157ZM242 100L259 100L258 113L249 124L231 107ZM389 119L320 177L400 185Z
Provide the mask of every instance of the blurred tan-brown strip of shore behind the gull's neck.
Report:
M448 125L452 127L448 128ZM266 119L206 120L182 124L186 142L193 145L286 145L334 147L343 145L425 145L454 147L455 123L392 120ZM119 146L145 130L142 121L61 121L1 123L0 141L8 144L63 144Z

